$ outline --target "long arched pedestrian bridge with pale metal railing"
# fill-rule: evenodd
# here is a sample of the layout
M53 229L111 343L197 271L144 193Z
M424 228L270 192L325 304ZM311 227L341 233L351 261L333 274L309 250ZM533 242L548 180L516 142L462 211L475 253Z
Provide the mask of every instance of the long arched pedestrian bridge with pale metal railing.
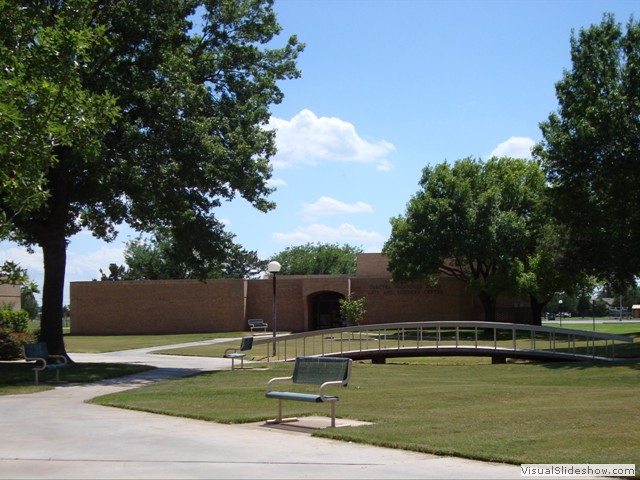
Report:
M258 356L264 353L271 361L301 355L370 359L373 363L396 357L480 356L503 363L507 358L611 361L616 358L616 343L629 342L633 338L624 335L515 323L415 322L256 337L253 345Z

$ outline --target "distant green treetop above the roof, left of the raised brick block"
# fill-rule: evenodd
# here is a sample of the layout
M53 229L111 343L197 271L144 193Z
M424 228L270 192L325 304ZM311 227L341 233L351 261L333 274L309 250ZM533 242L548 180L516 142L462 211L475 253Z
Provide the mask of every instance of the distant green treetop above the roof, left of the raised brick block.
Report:
M288 247L272 260L282 265L282 275L348 275L356 272L360 247L337 243L307 243Z

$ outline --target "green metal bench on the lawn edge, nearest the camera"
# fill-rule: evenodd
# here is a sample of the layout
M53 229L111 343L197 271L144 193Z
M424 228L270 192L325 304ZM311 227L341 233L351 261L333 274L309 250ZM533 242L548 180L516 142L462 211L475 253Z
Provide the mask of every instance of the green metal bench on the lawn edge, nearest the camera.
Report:
M267 398L278 400L278 418L268 423L283 423L296 421L296 418L282 418L282 401L295 400L299 402L313 402L331 404L331 426L336 426L336 404L340 400L337 396L325 395L324 391L329 386L346 387L351 378L350 358L332 357L298 357L290 377L276 377L267 382ZM274 383L293 382L296 384L319 385L320 391L315 393L282 392L272 390Z

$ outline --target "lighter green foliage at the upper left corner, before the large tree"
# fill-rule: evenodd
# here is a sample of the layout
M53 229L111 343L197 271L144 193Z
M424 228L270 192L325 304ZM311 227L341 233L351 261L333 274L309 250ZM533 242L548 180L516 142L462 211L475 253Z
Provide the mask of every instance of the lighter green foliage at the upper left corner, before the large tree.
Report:
M106 91L82 85L91 50L106 45L92 26L94 2L0 1L0 235L45 203L57 150L91 157L118 114ZM52 15L53 14L53 15ZM55 16L53 20L52 16Z

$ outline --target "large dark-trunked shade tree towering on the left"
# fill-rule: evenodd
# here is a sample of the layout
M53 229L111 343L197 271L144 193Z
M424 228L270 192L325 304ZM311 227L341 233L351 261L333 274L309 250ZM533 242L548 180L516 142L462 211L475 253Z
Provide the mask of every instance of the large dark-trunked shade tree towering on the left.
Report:
M15 158L0 152L3 162L17 166L11 175L22 164L36 168L45 192L35 207L19 210L12 190L3 188L0 211L9 219L10 238L42 248L41 338L52 353L64 354L62 292L71 235L84 228L110 240L122 222L140 231L166 228L198 272L204 259L222 260L227 253L216 206L239 195L262 211L274 207L266 182L275 134L265 125L270 105L282 99L277 83L299 75L302 46L295 37L273 46L280 27L270 0L25 0L2 6L3 15L15 10L6 21L20 27L3 38L16 55L32 50L37 56L47 45L43 32L78 38L71 45L75 53L50 47L34 60L40 67L35 77L66 69L74 86L68 100L78 103L71 103L64 141L53 137L39 163L26 148ZM21 42L30 48L19 48ZM37 91L28 98L40 101ZM43 110L16 114L16 121L31 128L32 115ZM51 131L58 131L56 124Z

